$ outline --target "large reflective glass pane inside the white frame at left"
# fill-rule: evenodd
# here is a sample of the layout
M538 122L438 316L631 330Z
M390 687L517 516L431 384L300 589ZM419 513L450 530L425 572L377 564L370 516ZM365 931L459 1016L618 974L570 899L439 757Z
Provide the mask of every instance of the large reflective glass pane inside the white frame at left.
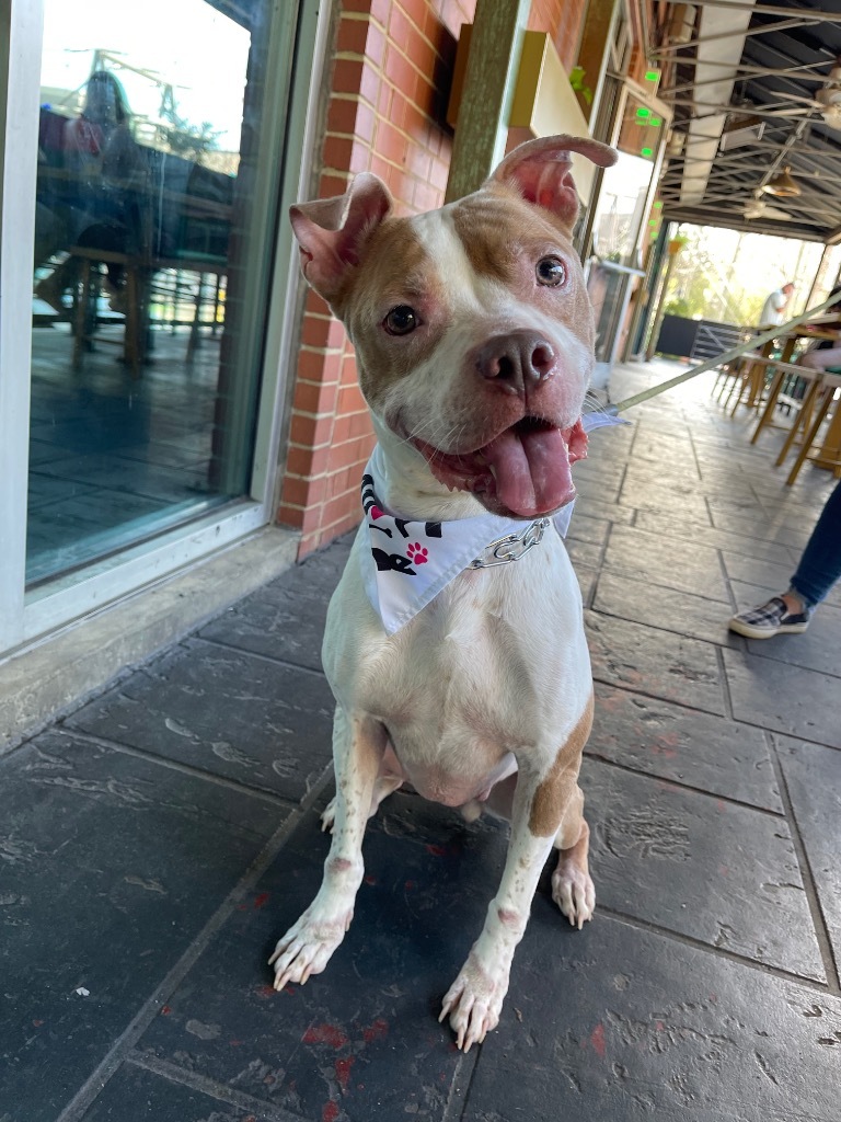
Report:
M270 0L46 0L27 581L248 495Z

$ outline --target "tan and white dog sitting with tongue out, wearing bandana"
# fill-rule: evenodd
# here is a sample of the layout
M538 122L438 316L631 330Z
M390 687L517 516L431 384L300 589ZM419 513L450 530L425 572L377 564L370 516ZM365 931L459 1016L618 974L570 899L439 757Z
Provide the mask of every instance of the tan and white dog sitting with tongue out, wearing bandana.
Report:
M551 525L586 453L593 365L571 153L616 160L598 141L549 137L425 214L394 215L370 174L290 209L304 276L354 346L378 447L322 652L336 699L332 843L313 903L269 962L277 990L324 969L353 917L367 819L401 783L469 820L502 815L499 891L440 1017L464 1051L499 1022L553 846L561 911L580 929L595 902L577 784L592 674L577 581ZM465 527L473 537L459 545ZM509 532L491 541L495 527ZM447 536L443 576L414 607L399 588L392 604Z

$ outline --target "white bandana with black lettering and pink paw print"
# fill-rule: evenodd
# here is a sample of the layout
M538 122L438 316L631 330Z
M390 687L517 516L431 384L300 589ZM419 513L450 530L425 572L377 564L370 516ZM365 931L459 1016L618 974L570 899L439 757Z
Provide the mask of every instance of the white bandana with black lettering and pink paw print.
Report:
M628 424L607 413L585 413L581 423L584 432L603 425ZM362 578L368 598L388 635L405 626L499 539L510 535L515 544L519 542L516 550L511 546L519 555L539 542L549 522L562 537L566 536L574 500L551 519L538 518L532 524L497 514L450 522L400 518L390 514L377 497L381 491L380 457L378 444L362 477L362 507L371 537L371 552L363 554ZM505 550L497 555L502 561L496 563L502 563Z

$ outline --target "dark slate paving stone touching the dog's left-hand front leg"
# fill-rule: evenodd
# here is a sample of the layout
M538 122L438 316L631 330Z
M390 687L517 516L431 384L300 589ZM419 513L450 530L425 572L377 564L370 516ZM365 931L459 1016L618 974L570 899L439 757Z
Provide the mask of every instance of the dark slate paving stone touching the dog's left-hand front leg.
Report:
M321 674L188 640L68 724L297 801L332 758L333 708Z

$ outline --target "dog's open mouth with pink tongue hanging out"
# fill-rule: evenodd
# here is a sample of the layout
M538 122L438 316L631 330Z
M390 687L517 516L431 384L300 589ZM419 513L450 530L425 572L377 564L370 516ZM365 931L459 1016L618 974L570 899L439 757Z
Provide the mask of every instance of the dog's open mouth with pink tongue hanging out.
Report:
M471 491L493 512L536 518L575 498L572 465L586 456L581 421L558 429L525 416L473 452L442 452L422 440L412 443L435 478L451 490Z

